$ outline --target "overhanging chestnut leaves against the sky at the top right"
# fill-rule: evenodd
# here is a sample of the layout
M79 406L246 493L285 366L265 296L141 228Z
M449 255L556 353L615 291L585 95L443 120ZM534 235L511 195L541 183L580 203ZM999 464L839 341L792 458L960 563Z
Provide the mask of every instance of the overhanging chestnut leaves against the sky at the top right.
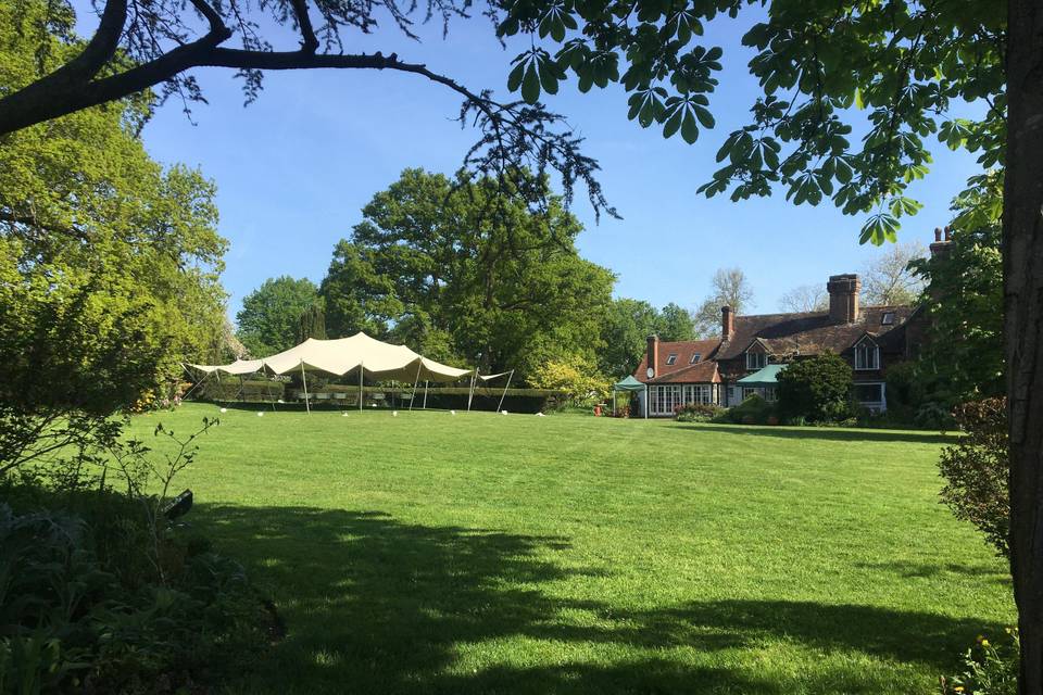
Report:
M714 127L709 96L722 70L722 50L699 37L706 22L734 18L743 4L507 0L500 36L533 41L507 87L535 103L569 75L583 92L618 83L630 94L631 121L694 142ZM928 173L928 138L980 152L985 168L1002 164L1004 31L1005 13L984 0L770 3L742 38L763 96L699 190L730 191L733 201L777 188L796 205L831 200L866 216L862 243L894 241L901 218L921 207L905 192ZM951 106L964 101L988 109L956 117Z

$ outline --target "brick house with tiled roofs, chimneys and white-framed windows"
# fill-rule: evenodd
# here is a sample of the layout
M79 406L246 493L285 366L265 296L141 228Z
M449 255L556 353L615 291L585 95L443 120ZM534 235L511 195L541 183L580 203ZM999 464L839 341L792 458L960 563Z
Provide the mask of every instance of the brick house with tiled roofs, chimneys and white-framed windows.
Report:
M946 250L947 230L945 237L935 230L932 254ZM769 367L827 351L851 365L855 399L872 410L885 410L884 374L890 365L917 354L925 334L921 312L914 306L860 306L862 282L853 274L831 276L826 289L827 311L737 316L724 306L719 338L663 342L650 336L633 374L648 384L648 415L673 416L674 408L686 403L738 405L751 393L774 401L767 377L754 375L774 381L778 367ZM640 401L643 413L643 394Z

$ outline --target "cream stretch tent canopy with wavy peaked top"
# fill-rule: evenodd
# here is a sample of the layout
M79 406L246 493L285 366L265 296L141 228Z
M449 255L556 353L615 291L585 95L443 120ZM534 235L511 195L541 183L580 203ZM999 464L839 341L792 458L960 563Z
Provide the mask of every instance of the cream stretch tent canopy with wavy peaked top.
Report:
M299 345L261 359L237 359L228 365L190 366L206 374L222 371L240 376L261 370L289 374L303 369L325 371L339 377L362 369L365 374L381 379L422 379L436 382L456 381L472 372L470 369L457 369L437 363L405 345L392 345L363 332L337 340L309 338Z

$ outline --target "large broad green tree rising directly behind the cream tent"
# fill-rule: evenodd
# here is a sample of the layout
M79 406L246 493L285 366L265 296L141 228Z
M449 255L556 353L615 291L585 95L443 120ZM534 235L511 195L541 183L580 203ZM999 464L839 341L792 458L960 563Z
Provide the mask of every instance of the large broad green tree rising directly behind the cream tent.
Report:
M330 331L365 329L487 374L593 362L614 277L579 257L582 227L544 179L515 180L525 186L407 169L374 195L323 280Z

